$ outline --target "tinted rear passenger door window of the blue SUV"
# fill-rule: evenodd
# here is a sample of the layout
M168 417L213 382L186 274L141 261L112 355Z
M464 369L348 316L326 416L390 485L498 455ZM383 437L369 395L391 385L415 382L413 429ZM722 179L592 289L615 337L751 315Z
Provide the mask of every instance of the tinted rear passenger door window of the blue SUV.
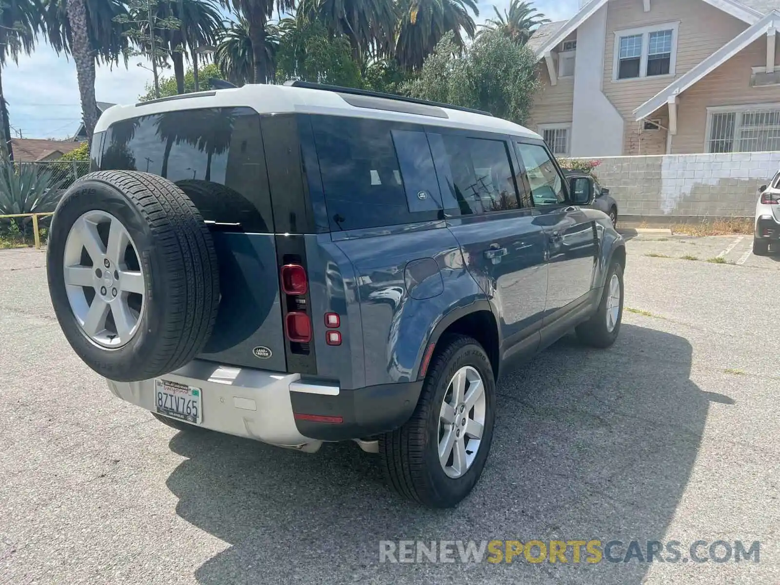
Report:
M437 133L429 133L428 140L440 170L445 207L458 207L463 215L519 207L503 140Z

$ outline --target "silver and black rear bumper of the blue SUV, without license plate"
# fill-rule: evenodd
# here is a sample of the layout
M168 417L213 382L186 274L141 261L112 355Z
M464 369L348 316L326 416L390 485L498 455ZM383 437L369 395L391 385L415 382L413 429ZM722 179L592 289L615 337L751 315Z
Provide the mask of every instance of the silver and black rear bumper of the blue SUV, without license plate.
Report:
M422 382L343 390L300 374L193 360L165 380L201 389L200 426L284 447L367 438L409 420ZM108 380L112 394L155 411L154 380Z

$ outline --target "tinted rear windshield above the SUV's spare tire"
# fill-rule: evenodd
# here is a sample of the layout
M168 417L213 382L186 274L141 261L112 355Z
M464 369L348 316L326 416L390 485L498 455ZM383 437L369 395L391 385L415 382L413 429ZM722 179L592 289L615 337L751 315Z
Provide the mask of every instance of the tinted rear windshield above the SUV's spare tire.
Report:
M260 116L250 108L178 110L116 122L106 134L100 167L163 176L205 220L273 232Z

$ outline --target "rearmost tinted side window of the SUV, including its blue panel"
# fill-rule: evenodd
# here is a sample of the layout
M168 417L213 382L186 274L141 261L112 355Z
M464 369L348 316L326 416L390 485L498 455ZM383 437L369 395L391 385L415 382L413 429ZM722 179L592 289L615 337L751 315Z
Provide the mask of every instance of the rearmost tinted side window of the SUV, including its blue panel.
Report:
M438 185L422 130L336 116L312 116L312 128L331 229L435 218Z

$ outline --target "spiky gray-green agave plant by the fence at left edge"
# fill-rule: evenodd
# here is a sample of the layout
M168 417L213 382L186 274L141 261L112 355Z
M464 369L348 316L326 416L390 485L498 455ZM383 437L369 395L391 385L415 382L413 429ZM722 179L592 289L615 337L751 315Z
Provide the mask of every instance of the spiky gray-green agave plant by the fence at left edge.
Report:
M42 165L0 159L0 215L54 211L61 186L62 181L55 180L51 170ZM25 232L29 222L30 218L16 218L12 223Z

